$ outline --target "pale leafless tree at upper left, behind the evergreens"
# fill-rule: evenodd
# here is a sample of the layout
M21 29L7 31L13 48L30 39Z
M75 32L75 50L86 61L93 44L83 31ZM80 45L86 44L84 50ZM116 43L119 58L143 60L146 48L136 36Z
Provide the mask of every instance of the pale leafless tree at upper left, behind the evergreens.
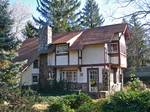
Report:
M22 40L22 30L24 29L27 21L32 19L30 7L27 7L20 2L16 2L10 9L12 10L12 18L14 19L12 33L18 39Z

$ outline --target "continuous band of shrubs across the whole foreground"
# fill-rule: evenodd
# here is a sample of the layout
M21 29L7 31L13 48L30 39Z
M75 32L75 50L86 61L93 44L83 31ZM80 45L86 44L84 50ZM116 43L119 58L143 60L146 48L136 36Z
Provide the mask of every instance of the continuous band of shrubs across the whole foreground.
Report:
M130 82L125 90L100 100L84 93L64 96L43 96L26 89L0 88L2 112L149 112L150 90L140 81ZM43 110L35 104L47 104Z

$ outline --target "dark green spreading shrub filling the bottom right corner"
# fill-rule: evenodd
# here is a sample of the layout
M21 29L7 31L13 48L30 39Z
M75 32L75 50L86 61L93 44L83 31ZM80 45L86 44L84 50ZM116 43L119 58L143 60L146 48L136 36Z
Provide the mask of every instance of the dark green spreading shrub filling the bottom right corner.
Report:
M104 112L149 112L150 91L118 92L103 104Z

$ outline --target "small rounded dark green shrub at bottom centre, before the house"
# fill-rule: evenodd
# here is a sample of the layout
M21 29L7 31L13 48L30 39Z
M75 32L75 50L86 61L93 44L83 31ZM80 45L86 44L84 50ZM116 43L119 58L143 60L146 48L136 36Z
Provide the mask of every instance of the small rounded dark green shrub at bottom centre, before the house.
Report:
M73 109L78 109L82 104L92 102L92 99L81 93L79 95L69 95L64 97L65 104L69 105Z

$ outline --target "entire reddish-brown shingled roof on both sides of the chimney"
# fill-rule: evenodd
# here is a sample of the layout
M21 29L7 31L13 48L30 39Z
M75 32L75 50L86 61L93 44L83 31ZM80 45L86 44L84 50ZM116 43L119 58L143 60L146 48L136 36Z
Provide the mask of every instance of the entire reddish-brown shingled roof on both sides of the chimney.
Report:
M70 49L82 49L84 45L110 42L115 33L122 32L128 36L127 24L114 24L101 26L93 29L57 34L52 37L52 44L67 43L75 38ZM28 60L30 65L38 57L38 38L26 39L18 50L18 56L15 61Z

